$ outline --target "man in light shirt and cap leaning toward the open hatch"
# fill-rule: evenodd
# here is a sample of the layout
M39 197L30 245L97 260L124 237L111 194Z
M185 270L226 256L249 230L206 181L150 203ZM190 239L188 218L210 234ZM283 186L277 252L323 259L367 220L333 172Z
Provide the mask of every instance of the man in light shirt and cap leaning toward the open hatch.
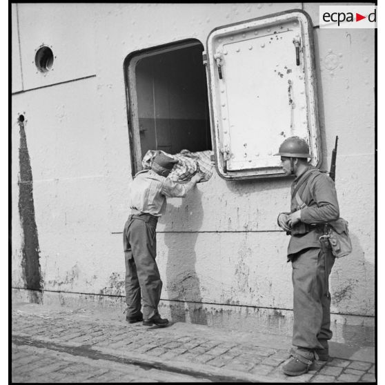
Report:
M158 313L162 282L155 261L157 221L166 210L166 197L184 197L204 178L204 174L198 172L187 184L175 183L167 176L177 162L159 152L151 170L138 172L130 187L131 213L123 233L126 320L130 324L143 321L146 326L168 325L168 319L162 319Z

